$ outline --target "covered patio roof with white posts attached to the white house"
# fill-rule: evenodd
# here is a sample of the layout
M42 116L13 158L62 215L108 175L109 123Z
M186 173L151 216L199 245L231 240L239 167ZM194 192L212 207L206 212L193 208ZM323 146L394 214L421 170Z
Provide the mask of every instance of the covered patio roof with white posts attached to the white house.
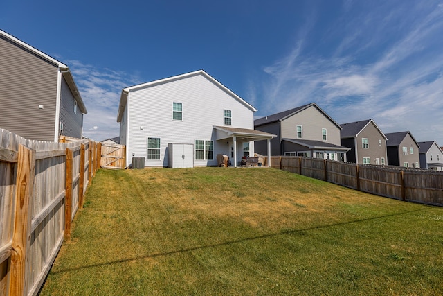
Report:
M271 139L277 137L275 134L262 132L260 130L251 130L248 128L231 128L226 126L213 126L215 139L217 141L227 141L233 143L233 166L237 166L237 143L251 141L267 141L267 156L271 158ZM271 166L268 162L268 166Z

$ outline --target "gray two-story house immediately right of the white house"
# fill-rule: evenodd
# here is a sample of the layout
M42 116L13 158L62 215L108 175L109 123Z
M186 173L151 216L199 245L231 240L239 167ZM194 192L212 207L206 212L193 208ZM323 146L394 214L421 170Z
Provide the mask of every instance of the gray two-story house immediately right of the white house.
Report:
M256 119L255 130L276 134L271 141L272 155L290 155L346 161L349 148L341 146L341 126L316 103ZM255 145L266 152L266 142Z

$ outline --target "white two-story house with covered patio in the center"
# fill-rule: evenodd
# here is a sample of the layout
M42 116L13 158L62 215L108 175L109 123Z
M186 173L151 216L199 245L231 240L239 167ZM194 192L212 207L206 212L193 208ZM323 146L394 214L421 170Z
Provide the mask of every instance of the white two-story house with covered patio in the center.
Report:
M217 154L237 166L243 155L254 155L254 141L275 137L253 130L255 111L203 70L127 87L117 115L127 166L132 157L145 157L145 166L170 166L169 144L183 144L179 157L192 159L191 166L217 166Z

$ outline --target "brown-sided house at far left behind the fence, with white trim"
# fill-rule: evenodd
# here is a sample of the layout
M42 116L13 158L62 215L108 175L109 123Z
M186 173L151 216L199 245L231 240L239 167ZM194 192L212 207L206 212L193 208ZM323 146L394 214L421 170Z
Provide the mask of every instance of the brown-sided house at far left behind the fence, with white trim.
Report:
M0 30L0 127L21 137L82 138L87 113L69 67Z

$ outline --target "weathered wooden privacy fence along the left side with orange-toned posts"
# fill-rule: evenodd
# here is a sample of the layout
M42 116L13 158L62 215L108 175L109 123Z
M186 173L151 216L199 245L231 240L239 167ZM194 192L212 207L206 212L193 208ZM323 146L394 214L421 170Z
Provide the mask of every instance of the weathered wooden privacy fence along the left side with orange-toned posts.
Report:
M98 143L0 129L0 295L36 295L100 167Z

